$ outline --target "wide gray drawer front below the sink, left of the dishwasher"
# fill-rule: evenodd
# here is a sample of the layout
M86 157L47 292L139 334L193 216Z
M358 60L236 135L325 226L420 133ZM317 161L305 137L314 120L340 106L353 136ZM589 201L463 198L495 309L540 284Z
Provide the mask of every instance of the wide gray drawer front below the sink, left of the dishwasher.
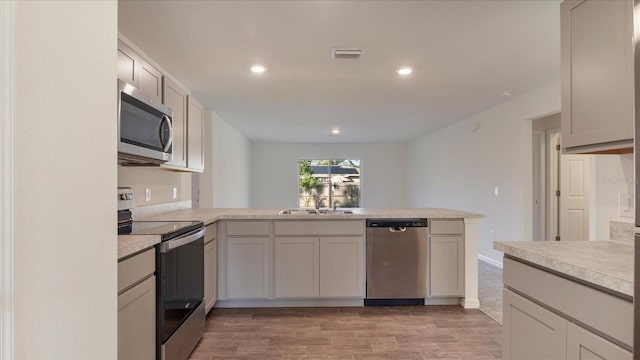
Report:
M277 221L276 235L364 235L363 221Z

